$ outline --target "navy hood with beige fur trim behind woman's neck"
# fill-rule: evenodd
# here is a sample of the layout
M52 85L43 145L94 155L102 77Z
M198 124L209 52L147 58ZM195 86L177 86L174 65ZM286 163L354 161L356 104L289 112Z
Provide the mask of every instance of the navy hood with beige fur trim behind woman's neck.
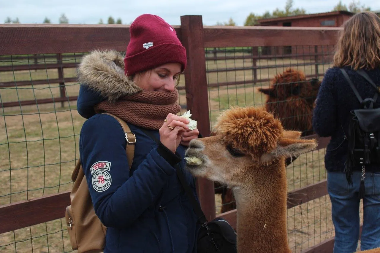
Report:
M124 75L123 57L114 50L95 50L85 55L78 66L78 81L77 110L86 119L95 114L93 106L101 101L113 103L141 91Z

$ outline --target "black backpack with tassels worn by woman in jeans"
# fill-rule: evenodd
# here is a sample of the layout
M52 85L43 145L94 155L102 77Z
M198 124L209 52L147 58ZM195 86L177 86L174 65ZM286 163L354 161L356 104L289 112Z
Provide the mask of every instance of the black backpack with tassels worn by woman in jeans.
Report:
M380 166L380 108L374 108L380 92L366 72L361 69L357 70L356 73L363 76L376 90L373 98L363 100L351 82L350 77L348 77L347 72L343 68L340 70L360 102L360 109L351 110L352 117L348 128L348 153L345 164L346 177L351 185L352 168L358 165L362 166L359 188L360 199L364 197L366 165L378 164Z

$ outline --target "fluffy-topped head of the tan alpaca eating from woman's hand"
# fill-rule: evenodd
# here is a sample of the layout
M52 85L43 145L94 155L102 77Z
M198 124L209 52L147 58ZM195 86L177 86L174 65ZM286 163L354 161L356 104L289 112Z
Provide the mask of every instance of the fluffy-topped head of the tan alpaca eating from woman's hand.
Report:
M270 164L285 169L283 158L316 147L315 140L300 139L301 132L283 130L280 120L264 108L228 109L220 114L213 130L214 136L190 142L186 157L198 158L198 162L188 164L187 168L194 176L230 187L247 183L247 173Z

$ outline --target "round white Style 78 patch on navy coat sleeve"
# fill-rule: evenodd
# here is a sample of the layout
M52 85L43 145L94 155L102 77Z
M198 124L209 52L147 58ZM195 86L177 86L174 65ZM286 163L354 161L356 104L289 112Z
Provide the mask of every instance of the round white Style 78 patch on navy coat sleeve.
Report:
M111 174L109 174L110 168L111 163L109 161L98 161L92 164L92 187L95 191L105 191L111 186L112 179Z

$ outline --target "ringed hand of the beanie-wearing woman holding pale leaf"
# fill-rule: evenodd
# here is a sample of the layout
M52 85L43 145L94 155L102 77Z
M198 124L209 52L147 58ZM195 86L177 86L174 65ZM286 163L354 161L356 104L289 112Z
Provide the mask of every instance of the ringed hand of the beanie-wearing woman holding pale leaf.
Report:
M176 149L179 146L182 134L188 130L188 124L190 120L177 116L175 114L169 113L166 116L166 122L163 123L160 132L160 141L167 147L171 152L176 153Z

